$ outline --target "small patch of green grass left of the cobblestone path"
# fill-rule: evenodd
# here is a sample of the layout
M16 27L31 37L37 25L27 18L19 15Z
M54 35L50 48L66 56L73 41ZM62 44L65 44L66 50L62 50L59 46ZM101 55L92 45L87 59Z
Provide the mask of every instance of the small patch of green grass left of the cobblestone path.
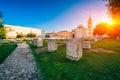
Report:
M9 44L9 41L0 41L2 44ZM10 53L16 48L16 44L0 45L0 64L10 55Z

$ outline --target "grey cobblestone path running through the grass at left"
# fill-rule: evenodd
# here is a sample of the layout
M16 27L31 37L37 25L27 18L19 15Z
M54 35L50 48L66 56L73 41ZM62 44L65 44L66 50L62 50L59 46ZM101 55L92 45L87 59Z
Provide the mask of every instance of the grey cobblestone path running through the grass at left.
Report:
M41 80L26 43L18 43L18 47L0 65L0 80Z

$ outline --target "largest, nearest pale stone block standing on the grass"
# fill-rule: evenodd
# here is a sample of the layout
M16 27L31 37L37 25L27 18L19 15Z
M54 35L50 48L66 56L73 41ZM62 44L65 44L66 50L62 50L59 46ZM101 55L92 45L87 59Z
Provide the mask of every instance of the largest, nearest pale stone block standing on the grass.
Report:
M82 43L76 39L70 39L67 42L66 57L70 60L78 61L82 57Z

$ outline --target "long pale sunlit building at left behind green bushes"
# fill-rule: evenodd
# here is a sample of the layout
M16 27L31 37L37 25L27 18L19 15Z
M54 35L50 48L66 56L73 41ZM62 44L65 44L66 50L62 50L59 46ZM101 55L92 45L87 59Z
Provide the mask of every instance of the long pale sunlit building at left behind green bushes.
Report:
M45 31L37 28L28 28L28 27L12 26L12 25L4 25L4 28L6 29L6 38L16 38L18 34L27 35L29 33L34 33L38 37L45 36Z

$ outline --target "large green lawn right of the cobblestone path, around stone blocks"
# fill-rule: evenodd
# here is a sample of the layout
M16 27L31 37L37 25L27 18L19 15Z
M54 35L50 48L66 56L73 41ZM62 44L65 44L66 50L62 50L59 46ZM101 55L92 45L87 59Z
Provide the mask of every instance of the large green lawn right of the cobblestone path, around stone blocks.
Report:
M120 41L103 40L92 45L94 48L113 50L115 53L83 51L76 62L66 59L66 46L54 52L36 54L30 45L43 80L120 80Z

